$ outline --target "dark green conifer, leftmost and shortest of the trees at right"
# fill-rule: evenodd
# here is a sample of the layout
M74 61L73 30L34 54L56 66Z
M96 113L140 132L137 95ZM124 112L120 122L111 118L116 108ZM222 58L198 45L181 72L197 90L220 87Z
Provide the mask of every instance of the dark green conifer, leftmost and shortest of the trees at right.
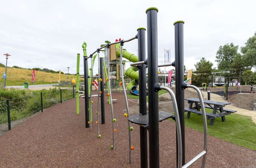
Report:
M196 75L192 77L193 85L201 86L202 82L210 82L210 74L214 70L212 69L212 64L210 61L207 61L204 57L195 64Z

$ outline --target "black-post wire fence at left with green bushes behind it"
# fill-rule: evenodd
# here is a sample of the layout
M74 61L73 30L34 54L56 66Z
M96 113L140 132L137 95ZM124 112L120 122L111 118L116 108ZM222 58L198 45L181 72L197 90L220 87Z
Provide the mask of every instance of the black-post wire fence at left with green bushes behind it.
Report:
M75 97L75 88L42 91L0 102L0 135L38 112Z

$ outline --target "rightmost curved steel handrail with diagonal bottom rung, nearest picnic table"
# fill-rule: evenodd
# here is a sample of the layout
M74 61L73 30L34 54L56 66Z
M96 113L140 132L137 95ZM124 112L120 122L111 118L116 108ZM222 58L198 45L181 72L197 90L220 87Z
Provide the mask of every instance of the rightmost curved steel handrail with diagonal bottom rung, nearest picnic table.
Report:
M184 164L182 167L190 166L191 164L196 162L201 157L203 157L201 167L205 167L206 154L207 154L207 120L206 120L206 113L205 113L205 108L204 108L203 96L202 96L201 91L198 89L198 87L196 87L194 85L187 85L186 87L187 88L193 88L197 91L198 97L199 97L199 100L200 100L200 103L201 103L202 116L203 116L203 125L204 125L204 150L201 153L199 153L196 157L191 159L189 162Z

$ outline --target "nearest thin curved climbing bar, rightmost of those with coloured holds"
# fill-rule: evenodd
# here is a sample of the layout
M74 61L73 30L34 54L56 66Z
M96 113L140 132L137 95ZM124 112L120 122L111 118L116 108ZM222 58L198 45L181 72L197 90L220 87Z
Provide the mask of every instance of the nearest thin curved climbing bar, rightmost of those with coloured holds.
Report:
M125 91L125 85L124 85L124 79L123 79L123 67L122 67L122 62L123 62L123 46L121 45L120 47L120 73L121 73L121 79L122 79L122 86L123 86L123 94L124 94L124 99L125 99L125 106L126 106L126 111L128 116L130 116L130 111L129 111L129 105L128 105L128 100L127 100L127 95ZM130 122L127 120L128 123L128 131L129 131L129 163L131 163L131 131L130 131Z

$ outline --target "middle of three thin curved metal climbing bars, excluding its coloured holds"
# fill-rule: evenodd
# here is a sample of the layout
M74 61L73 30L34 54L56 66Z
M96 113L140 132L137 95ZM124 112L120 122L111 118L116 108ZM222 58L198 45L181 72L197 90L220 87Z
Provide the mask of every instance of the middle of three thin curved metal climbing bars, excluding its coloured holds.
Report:
M108 56L110 56L110 49L107 48L108 50ZM111 105L111 117L112 117L112 131L113 131L113 135L112 135L112 139L113 139L113 149L115 149L115 123L113 122L114 119L114 110L113 110L113 101L112 101L112 92L111 92L111 77L110 77L110 57L108 57L109 61L108 61L108 77L109 77L109 93L110 93L110 105Z

